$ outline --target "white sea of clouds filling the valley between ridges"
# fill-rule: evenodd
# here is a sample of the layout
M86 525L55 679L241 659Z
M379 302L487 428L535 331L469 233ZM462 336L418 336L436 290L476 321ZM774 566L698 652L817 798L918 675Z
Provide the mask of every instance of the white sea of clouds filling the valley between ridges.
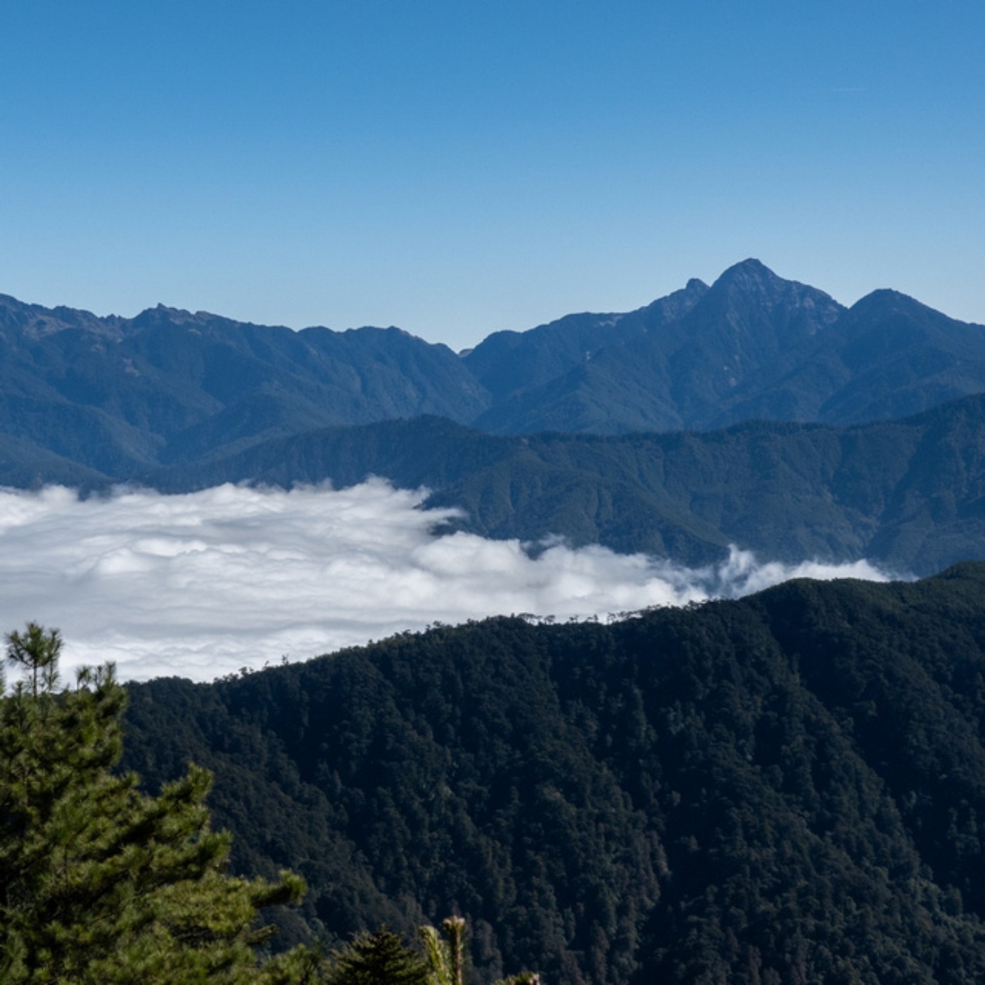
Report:
M439 536L451 510L370 481L335 491L164 495L0 490L0 630L57 626L63 669L211 681L427 624L508 613L605 617L737 597L791 577L886 580L868 563L687 568L601 547Z

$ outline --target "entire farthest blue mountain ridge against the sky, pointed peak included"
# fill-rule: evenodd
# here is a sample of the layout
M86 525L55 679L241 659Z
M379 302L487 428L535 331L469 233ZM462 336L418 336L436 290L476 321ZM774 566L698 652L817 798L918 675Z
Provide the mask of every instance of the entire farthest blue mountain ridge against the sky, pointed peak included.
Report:
M845 308L755 260L710 288L499 332L462 355L395 328L292 332L163 306L99 318L0 296L6 485L99 485L423 414L495 433L843 425L982 391L982 326L890 291Z

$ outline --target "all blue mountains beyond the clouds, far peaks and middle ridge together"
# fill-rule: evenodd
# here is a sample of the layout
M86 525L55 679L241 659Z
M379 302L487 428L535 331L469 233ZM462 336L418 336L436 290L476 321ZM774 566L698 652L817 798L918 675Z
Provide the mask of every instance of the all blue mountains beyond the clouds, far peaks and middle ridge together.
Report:
M889 291L845 308L755 260L463 354L395 328L0 297L4 485L375 475L485 536L689 564L730 546L920 575L981 557L983 393L982 326Z

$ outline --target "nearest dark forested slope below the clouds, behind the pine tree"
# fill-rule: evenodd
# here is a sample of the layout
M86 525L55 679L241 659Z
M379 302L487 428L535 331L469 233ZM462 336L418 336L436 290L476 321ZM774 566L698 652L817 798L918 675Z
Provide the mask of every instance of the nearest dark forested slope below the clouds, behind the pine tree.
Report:
M972 983L983 707L967 564L133 686L126 748L216 771L237 870L310 886L288 939L459 912L479 982Z

